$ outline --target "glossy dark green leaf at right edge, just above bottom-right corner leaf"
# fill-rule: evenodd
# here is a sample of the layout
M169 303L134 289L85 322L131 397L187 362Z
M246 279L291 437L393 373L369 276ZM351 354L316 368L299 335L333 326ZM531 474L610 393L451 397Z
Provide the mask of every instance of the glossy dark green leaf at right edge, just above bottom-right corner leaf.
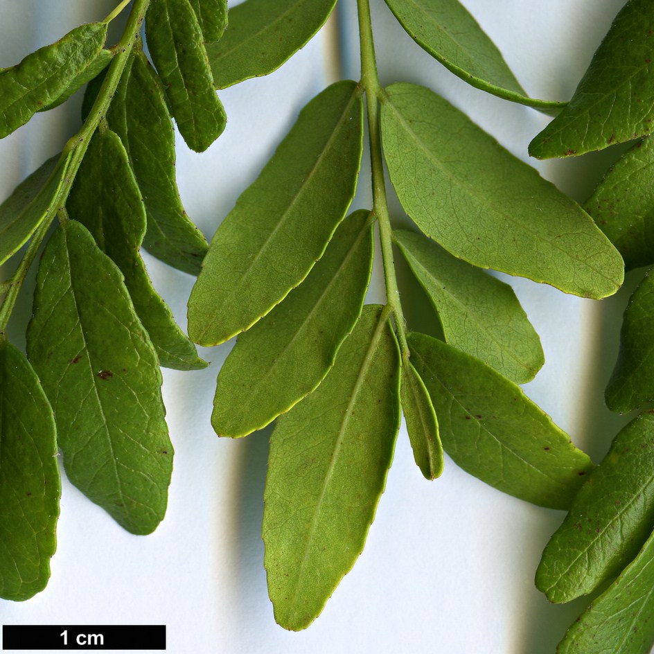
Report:
M654 414L615 437L542 553L536 586L567 602L619 574L654 529Z

